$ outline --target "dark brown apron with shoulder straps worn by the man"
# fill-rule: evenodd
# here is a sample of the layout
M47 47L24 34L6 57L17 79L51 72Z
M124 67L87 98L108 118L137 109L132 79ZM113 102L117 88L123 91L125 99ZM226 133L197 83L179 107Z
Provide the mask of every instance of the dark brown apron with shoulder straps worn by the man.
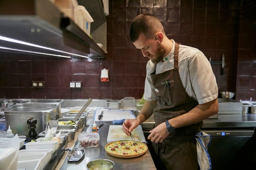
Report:
M166 72L150 74L158 104L154 109L155 126L187 113L198 105L184 89L178 71L179 45L175 43L174 68ZM177 128L162 143L152 142L157 167L161 170L198 170L195 134L200 131L203 121L182 128Z

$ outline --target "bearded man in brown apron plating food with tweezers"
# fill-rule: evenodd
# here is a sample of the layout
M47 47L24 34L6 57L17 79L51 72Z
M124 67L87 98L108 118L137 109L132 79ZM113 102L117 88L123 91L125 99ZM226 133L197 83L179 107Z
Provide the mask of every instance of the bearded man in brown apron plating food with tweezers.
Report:
M135 17L130 39L144 57L144 99L136 119L126 119L129 135L154 114L155 126L148 139L164 170L197 170L197 140L204 119L218 113L218 87L212 67L198 49L169 40L161 22L152 15Z

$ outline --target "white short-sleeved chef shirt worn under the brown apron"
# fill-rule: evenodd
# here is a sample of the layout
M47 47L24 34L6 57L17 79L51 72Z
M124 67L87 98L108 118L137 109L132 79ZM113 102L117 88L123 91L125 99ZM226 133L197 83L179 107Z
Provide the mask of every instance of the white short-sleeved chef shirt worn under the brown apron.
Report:
M174 42L174 40L172 40ZM175 43L175 42L174 42ZM156 65L156 74L174 68L174 46L170 53L164 57L164 62ZM218 86L212 67L206 56L196 48L180 45L178 67L181 82L187 94L199 104L207 103L218 97ZM146 80L144 99L146 101L158 100L150 74L154 71L154 63L149 60L146 66Z

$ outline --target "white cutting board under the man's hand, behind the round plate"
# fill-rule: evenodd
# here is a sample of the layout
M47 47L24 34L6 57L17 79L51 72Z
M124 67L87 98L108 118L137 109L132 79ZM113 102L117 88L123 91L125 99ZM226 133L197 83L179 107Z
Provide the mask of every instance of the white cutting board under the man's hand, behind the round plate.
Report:
M132 131L132 135L136 141L146 142L141 125ZM108 129L107 143L120 140L132 140L132 137L123 132L122 125L110 125L110 128Z

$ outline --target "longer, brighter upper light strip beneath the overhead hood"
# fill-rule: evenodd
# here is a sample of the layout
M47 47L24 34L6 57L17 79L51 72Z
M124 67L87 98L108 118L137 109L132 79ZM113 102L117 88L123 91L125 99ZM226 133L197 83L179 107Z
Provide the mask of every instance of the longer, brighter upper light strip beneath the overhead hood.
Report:
M23 44L23 45L28 45L28 46L42 48L42 49L63 52L63 53L66 53L66 54L75 55L75 56L79 56L79 57L89 58L88 56L82 56L82 55L78 55L78 54L75 54L75 53L70 53L70 52L66 52L66 51L62 51L62 50L56 50L56 49L52 49L52 48L49 48L49 47L44 47L44 46L41 46L41 45L32 44L32 43L29 43L29 42L24 42L24 41L20 41L20 40L15 40L15 39L7 38L7 37L1 36L1 35L0 35L0 40L9 41L9 42L15 42L15 43L18 43L18 44Z

